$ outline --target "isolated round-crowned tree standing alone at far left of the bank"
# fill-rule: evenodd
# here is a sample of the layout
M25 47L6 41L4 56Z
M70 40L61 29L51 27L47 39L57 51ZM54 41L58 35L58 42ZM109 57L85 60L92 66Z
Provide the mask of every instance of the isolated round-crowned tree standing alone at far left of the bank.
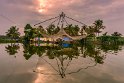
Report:
M16 28L16 26L12 26L7 32L6 36L10 37L11 39L19 39L20 33L18 32L19 28Z

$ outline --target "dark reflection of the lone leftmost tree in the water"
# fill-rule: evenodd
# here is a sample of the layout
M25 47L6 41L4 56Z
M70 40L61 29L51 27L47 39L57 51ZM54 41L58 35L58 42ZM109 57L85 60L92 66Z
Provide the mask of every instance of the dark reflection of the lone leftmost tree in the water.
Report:
M9 53L9 55L15 55L16 53L18 53L18 50L20 47L19 47L19 44L11 44L5 48L7 53Z

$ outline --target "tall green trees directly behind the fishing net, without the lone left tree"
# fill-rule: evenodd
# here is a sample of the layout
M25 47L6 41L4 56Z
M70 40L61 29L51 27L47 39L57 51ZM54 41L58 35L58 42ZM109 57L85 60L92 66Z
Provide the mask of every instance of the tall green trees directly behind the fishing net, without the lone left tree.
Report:
M84 25L81 30L79 28L78 25L67 25L66 27L63 27L65 32L70 35L70 36L78 36L79 33L81 33L81 35L84 34L84 30L85 32L88 34L89 37L95 37L95 33L100 33L101 29L104 29L105 27L103 26L103 21L102 20L96 20L94 23L94 25L92 26L87 26ZM60 27L59 26L55 26L54 24L49 25L46 30L42 27L39 26L38 28L32 28L30 24L27 24L25 26L25 38L27 40L30 40L34 37L43 37L43 34L47 34L47 35L54 35L57 34L60 31Z

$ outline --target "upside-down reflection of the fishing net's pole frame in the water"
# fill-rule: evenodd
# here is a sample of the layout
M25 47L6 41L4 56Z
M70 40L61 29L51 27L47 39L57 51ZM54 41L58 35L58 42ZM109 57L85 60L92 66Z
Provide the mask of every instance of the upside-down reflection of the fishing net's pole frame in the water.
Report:
M97 63L91 58L78 57L77 59L69 60L65 56L59 56L55 59L40 57L34 72L43 75L60 75L64 78L66 75L78 73L83 69L96 65Z

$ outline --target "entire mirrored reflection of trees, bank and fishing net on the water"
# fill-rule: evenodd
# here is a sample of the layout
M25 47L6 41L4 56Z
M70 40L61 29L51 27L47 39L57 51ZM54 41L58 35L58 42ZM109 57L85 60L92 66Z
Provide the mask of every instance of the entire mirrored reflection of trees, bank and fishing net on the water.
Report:
M19 45L11 44L5 48L9 55L15 55L19 50ZM61 45L23 44L23 48L23 56L26 60L29 60L33 55L38 55L39 59L33 72L38 73L39 77L41 75L60 75L64 78L66 75L78 73L97 64L103 64L106 53L117 53L122 47L120 45L95 45L92 43L74 45L63 43ZM41 61L47 63L50 69L55 72L41 66ZM56 63L52 63L53 61ZM76 66L79 61L81 62L80 66ZM73 64L74 62L76 64Z

